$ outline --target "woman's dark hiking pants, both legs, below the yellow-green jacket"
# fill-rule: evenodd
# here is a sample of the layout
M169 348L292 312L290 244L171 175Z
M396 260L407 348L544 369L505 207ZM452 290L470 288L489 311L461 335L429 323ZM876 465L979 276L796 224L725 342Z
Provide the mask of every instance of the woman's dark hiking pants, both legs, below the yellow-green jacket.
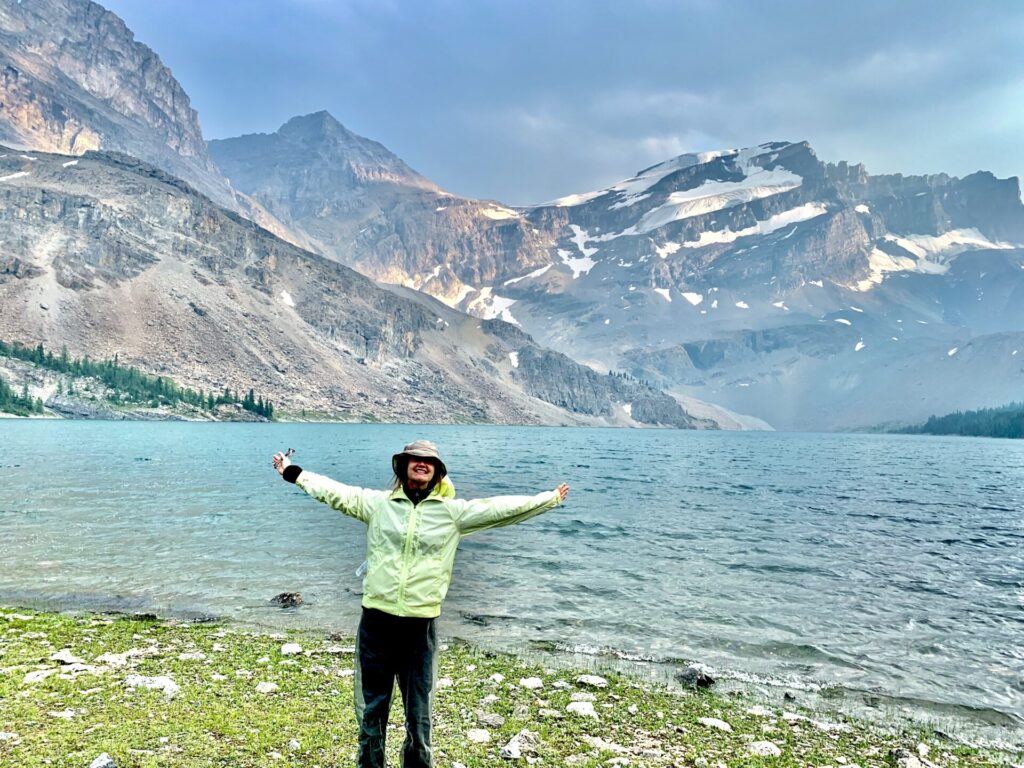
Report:
M355 719L358 768L385 768L384 741L394 682L406 708L403 768L431 768L430 710L437 631L433 618L362 609L355 639Z

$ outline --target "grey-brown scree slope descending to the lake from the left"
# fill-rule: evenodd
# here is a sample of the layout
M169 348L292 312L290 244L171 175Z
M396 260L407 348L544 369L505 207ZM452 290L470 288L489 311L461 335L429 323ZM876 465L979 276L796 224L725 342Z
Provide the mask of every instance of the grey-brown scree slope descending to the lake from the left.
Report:
M546 397L554 373L517 371L510 354L536 347L520 332L507 341L422 294L384 290L125 155L0 147L0 338L117 353L206 390L254 387L280 412L696 424L678 406L671 420L631 419L608 388L585 408Z

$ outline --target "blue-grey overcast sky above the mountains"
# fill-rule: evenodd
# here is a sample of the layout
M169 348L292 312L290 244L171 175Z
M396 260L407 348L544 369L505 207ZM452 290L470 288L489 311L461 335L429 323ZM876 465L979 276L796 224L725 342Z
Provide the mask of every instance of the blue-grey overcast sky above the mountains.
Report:
M515 205L806 139L868 171L1024 173L1024 2L101 0L204 133L328 110Z

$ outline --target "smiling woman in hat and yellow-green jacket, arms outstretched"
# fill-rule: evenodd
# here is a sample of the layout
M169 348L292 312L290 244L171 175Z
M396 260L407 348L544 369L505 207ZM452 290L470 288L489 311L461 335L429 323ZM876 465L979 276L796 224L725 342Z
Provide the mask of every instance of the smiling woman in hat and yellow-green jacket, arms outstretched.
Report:
M304 471L285 454L273 467L317 501L367 523L362 618L355 640L358 768L384 768L391 692L398 680L406 709L404 768L431 768L430 710L440 614L462 537L528 520L561 504L562 483L537 496L455 498L447 469L428 440L391 459L391 490L353 487Z

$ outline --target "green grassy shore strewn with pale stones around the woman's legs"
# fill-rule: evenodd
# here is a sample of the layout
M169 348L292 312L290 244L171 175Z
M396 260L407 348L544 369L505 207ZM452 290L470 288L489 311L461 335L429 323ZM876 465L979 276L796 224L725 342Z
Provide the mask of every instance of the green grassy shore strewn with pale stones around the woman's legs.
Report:
M351 765L352 638L156 616L0 608L0 763ZM744 695L670 690L441 646L438 765L858 766L1020 763ZM397 764L401 708L392 711ZM105 757L104 757L105 756Z

